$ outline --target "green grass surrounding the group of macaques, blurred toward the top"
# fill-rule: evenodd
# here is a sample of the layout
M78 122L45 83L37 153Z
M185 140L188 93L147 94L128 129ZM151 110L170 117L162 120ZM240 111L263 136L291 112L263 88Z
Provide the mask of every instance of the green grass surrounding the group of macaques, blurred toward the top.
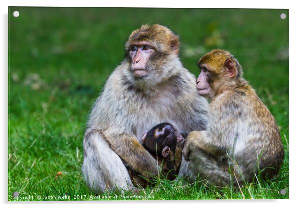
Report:
M157 179L140 195L155 200L288 198L288 19L280 19L281 13L288 16L288 10L258 9L10 7L8 200L99 200L106 195L90 192L82 179L85 122L123 59L128 35L143 23L166 25L179 34L181 60L195 75L205 52L231 51L276 118L285 159L278 177L244 184L241 191ZM279 194L281 189L287 193ZM33 198L14 199L14 191ZM58 198L65 193L70 199ZM109 195L122 199L120 192ZM134 199L140 198L126 200Z

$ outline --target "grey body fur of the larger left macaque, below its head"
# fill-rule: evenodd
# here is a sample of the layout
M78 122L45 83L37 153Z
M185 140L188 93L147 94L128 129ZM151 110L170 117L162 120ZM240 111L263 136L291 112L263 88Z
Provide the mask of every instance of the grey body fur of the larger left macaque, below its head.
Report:
M132 189L125 160L156 164L146 150L147 158L126 158L133 151L129 139L141 143L144 132L163 122L186 135L206 128L208 103L197 95L195 80L176 54L167 55L161 68L141 80L133 78L127 60L115 69L94 103L84 136L82 172L92 190Z

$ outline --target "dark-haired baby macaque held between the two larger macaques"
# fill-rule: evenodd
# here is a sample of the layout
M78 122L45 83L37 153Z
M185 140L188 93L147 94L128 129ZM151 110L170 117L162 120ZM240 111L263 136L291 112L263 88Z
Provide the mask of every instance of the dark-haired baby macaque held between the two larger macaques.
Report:
M160 123L142 136L144 148L158 160L164 158L164 173L174 179L178 173L184 137L169 123Z

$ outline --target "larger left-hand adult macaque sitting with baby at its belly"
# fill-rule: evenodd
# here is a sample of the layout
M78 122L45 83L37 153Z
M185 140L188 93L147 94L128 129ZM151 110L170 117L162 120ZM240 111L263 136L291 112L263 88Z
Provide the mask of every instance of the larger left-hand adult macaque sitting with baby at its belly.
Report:
M207 101L178 57L179 38L161 25L142 25L126 43L125 59L108 78L90 113L82 172L97 192L133 188L130 170L149 178L157 161L142 134L168 122L184 135L204 130Z

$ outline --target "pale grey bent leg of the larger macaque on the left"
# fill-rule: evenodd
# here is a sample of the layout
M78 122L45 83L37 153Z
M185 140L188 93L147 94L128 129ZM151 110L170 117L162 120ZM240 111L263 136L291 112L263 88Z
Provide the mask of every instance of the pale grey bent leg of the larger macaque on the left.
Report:
M97 130L88 130L84 137L82 171L88 186L97 192L133 189L130 176L120 157L110 148Z

